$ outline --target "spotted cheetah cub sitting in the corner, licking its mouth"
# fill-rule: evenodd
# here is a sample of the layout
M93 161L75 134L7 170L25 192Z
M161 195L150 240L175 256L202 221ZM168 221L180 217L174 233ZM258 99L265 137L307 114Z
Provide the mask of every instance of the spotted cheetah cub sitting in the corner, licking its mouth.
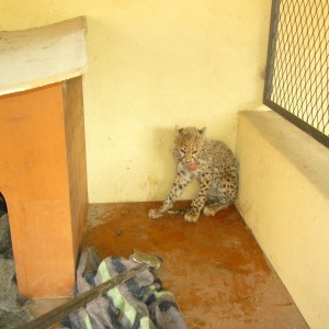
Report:
M198 193L191 208L184 214L186 222L196 222L202 209L206 216L214 216L236 201L238 161L224 143L205 139L205 131L206 128L194 127L175 128L173 156L177 161L177 177L162 206L150 209L149 218L161 217L170 211L177 197L193 179L198 181Z

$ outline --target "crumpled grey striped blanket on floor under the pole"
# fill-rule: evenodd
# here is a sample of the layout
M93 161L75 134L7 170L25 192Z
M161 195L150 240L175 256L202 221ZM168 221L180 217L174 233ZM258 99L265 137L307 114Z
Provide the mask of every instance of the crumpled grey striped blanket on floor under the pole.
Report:
M77 270L76 295L134 266L136 262L122 257L109 257L101 261L94 249L86 249L80 256ZM61 328L185 329L188 327L174 296L163 291L161 281L146 269L71 313L63 321Z

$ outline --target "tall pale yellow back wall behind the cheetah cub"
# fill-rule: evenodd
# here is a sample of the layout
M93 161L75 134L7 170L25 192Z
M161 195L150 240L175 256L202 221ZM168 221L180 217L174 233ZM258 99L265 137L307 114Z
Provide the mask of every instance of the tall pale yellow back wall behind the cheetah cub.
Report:
M90 202L162 198L175 125L235 147L237 111L262 102L270 0L0 1L0 30L78 15Z

